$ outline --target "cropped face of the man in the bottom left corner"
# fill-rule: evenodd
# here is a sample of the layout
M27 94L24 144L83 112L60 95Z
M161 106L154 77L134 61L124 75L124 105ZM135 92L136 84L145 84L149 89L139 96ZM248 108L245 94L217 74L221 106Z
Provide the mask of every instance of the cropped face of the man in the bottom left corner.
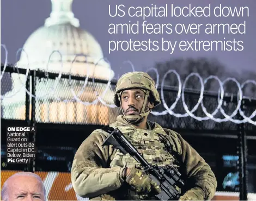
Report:
M35 177L17 176L8 181L8 200L44 200L42 184Z

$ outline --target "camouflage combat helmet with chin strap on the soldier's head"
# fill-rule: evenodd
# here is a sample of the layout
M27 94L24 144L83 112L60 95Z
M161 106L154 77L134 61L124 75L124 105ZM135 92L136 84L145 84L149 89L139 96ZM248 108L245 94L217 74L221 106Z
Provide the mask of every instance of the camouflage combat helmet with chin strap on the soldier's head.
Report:
M154 102L154 106L161 104L159 92L156 89L155 81L149 76L149 74L144 72L129 72L125 73L123 76L121 76L117 82L117 85L115 85L115 91L114 91L114 104L118 107L121 106L121 99L120 94L122 91L127 89L141 89L145 92L145 98L144 103L142 106L141 114L139 115L125 115L123 108L121 107L121 110L123 112L124 118L129 121L129 119L135 119L138 122L141 120L144 116L149 115L150 110L145 112L145 106L147 104L149 96Z

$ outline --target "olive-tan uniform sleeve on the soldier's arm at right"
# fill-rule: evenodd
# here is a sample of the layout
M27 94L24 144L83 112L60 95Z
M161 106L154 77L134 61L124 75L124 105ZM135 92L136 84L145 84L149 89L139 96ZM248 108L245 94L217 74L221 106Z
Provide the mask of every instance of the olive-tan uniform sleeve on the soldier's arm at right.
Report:
M217 180L211 167L205 162L197 151L191 147L180 134L173 134L176 139L176 146L180 146L182 164L185 166L185 173L189 180L191 189L194 193L200 193L204 200L210 200L214 197Z

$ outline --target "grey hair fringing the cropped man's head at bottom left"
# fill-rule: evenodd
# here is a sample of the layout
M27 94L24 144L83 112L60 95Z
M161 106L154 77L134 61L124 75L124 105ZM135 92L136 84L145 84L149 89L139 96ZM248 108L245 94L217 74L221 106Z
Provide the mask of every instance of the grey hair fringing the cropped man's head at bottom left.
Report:
M7 201L8 200L8 194L7 194L7 185L8 185L8 180L11 179L11 178L14 178L14 177L17 177L17 176L28 176L28 177L35 177L36 179L38 179L38 181L42 184L42 189L43 189L43 192L44 192L44 200L46 200L46 190L45 190L45 186L44 186L44 183L42 183L42 179L39 177L39 175L35 174L35 173L32 173L32 172L18 172L18 173L15 173L13 175L11 175L11 177L9 177L3 187L2 187L2 191L1 191L1 198L2 200L4 201Z

